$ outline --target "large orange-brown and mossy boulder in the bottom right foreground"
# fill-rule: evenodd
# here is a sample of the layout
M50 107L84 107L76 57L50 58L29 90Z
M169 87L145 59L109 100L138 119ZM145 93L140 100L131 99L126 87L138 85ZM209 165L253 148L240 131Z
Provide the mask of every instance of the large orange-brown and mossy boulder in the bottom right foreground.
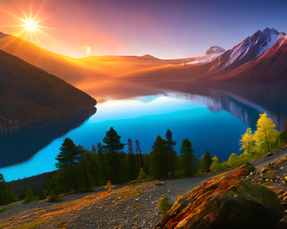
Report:
M254 167L253 167L254 168ZM180 197L154 229L270 228L284 209L270 189L241 179L243 165L202 183Z

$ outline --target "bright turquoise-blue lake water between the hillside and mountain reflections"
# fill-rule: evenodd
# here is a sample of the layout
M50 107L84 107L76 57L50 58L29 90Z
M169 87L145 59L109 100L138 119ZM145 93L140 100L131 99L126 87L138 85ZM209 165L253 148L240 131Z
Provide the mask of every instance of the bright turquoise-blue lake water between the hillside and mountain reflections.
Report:
M60 130L61 124L57 127ZM41 149L36 149L31 155L29 145L45 138L43 133L49 133L49 127L39 133L37 131L40 128L33 129L31 142L9 154L9 164L2 166L0 173L6 181L10 181L53 171L56 169L55 157L65 137L71 138L76 145L91 149L92 143L102 141L110 127L121 135L123 143L127 143L128 138L133 141L139 139L143 153L149 153L157 135L164 137L166 130L170 129L177 142L177 152L181 141L188 138L197 158L209 149L212 155L217 155L223 161L227 160L231 153L240 153L239 139L248 125L229 112L212 112L206 106L195 104L184 96L155 95L112 100L98 104L96 114L66 132L55 133L57 128L54 126L52 132L55 136L51 133L51 140L43 143ZM22 136L27 137L27 131L8 135L12 140L16 137L22 139ZM124 150L127 151L127 147ZM27 155L27 158L17 161L17 153Z

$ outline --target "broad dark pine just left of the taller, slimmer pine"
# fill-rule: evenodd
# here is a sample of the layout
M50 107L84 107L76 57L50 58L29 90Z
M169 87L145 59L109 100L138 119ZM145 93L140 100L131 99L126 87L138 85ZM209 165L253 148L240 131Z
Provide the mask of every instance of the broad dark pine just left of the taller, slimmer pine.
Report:
M168 178L168 152L166 141L158 135L150 151L150 172L156 179Z

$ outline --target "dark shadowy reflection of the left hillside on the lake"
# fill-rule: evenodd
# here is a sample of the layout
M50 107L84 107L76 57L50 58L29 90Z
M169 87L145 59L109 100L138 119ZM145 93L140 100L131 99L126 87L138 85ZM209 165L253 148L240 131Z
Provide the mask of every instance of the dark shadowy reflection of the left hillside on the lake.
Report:
M91 109L65 119L0 129L0 168L28 160L54 139L82 125L95 112L96 109Z

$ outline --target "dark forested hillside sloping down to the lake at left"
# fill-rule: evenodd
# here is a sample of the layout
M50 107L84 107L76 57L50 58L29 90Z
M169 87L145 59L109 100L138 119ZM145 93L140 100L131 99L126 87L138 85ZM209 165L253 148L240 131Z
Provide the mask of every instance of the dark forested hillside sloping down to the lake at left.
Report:
M73 115L96 103L64 80L0 50L0 128Z

